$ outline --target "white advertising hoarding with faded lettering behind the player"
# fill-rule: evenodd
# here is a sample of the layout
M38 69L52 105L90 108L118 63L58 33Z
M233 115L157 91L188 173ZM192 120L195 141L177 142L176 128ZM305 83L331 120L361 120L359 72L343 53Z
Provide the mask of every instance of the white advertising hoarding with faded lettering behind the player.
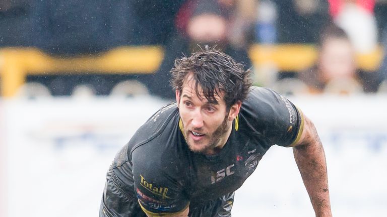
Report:
M387 98L292 98L325 145L337 216L387 214ZM115 153L165 101L0 102L0 216L96 216ZM236 192L233 216L312 216L290 148L271 148Z

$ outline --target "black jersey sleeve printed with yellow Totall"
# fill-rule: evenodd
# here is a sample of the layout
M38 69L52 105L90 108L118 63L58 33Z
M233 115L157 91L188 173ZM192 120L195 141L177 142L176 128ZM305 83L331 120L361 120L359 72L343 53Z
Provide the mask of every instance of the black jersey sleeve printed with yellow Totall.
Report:
M159 158L155 152L151 153L145 145L132 154L134 188L139 204L149 215L176 214L184 210L189 201L173 173L168 173L163 164L165 159Z

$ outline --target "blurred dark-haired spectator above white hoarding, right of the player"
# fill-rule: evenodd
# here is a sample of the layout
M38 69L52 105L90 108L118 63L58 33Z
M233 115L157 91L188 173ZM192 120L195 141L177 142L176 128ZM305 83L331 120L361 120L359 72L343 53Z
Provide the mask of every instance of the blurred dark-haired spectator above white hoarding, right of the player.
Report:
M331 25L322 31L317 63L300 72L299 79L308 85L311 93L362 91L354 49L343 29Z

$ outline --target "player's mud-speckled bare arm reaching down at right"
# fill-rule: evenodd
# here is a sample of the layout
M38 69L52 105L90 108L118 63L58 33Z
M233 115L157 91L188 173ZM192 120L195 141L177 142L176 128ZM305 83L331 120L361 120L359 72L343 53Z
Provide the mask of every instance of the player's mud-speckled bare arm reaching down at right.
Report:
M294 158L316 216L332 216L324 148L313 123L305 117L300 141L293 147Z

